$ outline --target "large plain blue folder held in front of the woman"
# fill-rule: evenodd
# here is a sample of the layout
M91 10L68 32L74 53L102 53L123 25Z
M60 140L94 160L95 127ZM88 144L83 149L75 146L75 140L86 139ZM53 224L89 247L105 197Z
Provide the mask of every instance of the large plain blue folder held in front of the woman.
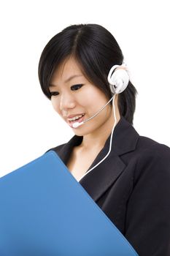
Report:
M134 256L54 151L0 178L1 256Z

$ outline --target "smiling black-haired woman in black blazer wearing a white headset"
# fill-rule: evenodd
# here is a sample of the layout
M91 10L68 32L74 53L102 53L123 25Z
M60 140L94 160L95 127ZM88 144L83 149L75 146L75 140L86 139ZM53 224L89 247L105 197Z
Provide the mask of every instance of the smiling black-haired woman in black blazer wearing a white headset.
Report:
M115 38L96 24L63 29L39 61L42 91L75 133L53 150L140 256L168 256L170 149L132 126L127 76Z

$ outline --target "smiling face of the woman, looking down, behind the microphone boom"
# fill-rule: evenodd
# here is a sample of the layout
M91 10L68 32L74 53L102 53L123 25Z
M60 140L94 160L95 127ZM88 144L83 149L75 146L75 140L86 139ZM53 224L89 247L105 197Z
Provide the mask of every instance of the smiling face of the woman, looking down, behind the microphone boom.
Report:
M80 65L73 58L66 59L55 70L49 89L53 108L70 127L75 122L70 118L77 116L80 117L79 122L86 120L108 102L106 95L85 78ZM107 105L90 121L72 129L78 136L87 135L97 129L102 130L101 127L106 125L109 118L113 118L112 108Z

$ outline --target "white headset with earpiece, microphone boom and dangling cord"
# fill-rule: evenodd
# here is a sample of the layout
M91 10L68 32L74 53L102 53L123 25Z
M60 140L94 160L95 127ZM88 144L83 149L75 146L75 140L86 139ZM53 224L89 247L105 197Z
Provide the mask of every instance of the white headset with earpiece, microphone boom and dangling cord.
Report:
M123 64L121 65L114 65L110 70L109 70L109 75L107 77L107 80L109 82L109 88L112 91L112 98L109 99L109 102L111 102L112 100L112 106L113 106L113 113L114 113L114 118L115 118L115 124L112 128L112 133L111 133L111 137L110 137L110 143L109 143L109 151L107 153L107 155L101 159L100 162L98 162L95 166L93 166L90 170L88 170L88 172L86 172L80 179L82 179L86 174L88 174L91 170L93 170L94 168L96 168L98 165L101 164L101 162L104 161L104 159L106 159L109 156L109 153L111 151L112 148L112 135L115 129L115 126L117 124L117 118L116 118L116 114L115 114L115 95L116 94L120 94L123 91L125 91L126 87L128 86L129 83L129 72L128 69L126 67L125 62L123 62ZM73 128L77 128L80 127L82 124L85 124L85 122L90 121L90 119L94 118L95 116L98 115L98 113L101 112L101 110L103 110L108 104L109 102L107 102L107 104L105 104L100 110L98 110L98 112L91 116L90 118L86 119L85 121L82 122L75 122L74 124L72 124Z

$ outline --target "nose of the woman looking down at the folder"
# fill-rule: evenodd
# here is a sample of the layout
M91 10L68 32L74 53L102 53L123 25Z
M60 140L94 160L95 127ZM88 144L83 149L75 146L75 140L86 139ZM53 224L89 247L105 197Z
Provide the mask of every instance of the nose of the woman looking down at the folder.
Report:
M74 108L76 105L74 97L69 92L65 92L61 95L60 100L60 110L68 110L69 108Z

